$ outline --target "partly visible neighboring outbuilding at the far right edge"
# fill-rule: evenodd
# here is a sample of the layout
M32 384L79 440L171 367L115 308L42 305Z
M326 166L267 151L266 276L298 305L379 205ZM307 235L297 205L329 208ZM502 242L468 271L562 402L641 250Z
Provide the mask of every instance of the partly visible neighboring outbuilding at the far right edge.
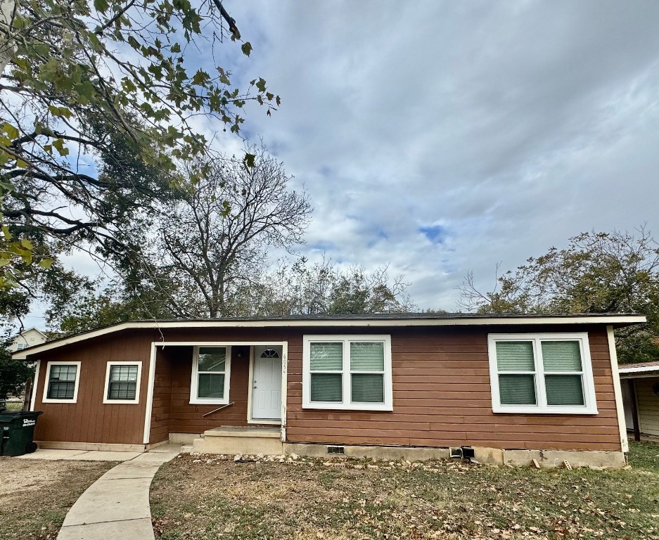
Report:
M659 442L659 361L620 366L627 431L634 440Z

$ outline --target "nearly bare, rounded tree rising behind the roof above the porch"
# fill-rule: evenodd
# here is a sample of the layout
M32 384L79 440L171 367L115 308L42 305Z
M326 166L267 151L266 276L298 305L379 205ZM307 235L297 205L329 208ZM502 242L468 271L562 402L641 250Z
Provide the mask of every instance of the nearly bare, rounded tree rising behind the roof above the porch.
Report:
M208 174L180 190L155 223L141 278L177 316L238 314L237 295L260 281L268 250L302 242L312 211L307 194L290 191L290 176L263 146L247 150L252 167L226 157L194 162L189 174Z

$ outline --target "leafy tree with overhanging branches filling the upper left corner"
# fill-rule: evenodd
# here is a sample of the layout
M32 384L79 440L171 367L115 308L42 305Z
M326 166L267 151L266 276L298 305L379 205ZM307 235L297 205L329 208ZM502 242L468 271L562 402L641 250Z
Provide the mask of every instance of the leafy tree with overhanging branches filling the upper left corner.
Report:
M112 161L117 144L168 182L195 182L177 174L181 162L212 155L194 117L239 134L248 101L268 114L279 105L263 79L241 91L221 66L200 65L225 37L241 39L219 0L2 3L0 287L21 278L17 264L49 266L55 253L30 255L44 236L117 247L113 203L128 206L139 182L125 174L134 168L110 180L92 163ZM249 56L252 46L241 50ZM244 159L250 166L254 156Z

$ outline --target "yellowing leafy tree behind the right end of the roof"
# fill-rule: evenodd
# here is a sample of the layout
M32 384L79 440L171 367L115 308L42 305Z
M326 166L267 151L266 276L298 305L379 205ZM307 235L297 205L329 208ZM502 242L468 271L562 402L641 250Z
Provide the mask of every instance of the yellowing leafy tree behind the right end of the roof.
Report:
M480 292L471 273L460 290L461 307L479 313L646 314L646 325L616 331L618 355L621 363L659 359L659 244L645 227L581 233L499 276L492 291Z

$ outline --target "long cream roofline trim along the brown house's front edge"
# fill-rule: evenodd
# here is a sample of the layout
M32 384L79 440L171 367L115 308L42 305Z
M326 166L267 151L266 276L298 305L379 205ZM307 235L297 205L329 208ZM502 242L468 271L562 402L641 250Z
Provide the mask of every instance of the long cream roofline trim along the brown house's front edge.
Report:
M117 323L112 326L105 326L96 330L89 330L88 332L71 335L68 338L60 338L51 342L43 343L41 345L34 345L27 347L20 352L25 356L32 356L46 352L57 347L64 345L72 345L73 343L98 338L101 335L106 335L122 330L133 329L153 329L164 330L167 328L309 328L309 327L326 327L336 328L341 326L350 327L376 327L383 328L388 326L494 326L506 325L512 326L515 324L523 324L527 326L538 326L546 324L607 324L607 325L623 325L644 323L646 322L645 315L628 315L628 314L588 314L588 315L550 315L550 316L537 316L537 315L516 315L516 316L482 316L476 315L461 315L459 317L442 317L437 319L406 319L401 317L399 319L224 319L224 320L193 320L193 321L129 321L124 323Z

